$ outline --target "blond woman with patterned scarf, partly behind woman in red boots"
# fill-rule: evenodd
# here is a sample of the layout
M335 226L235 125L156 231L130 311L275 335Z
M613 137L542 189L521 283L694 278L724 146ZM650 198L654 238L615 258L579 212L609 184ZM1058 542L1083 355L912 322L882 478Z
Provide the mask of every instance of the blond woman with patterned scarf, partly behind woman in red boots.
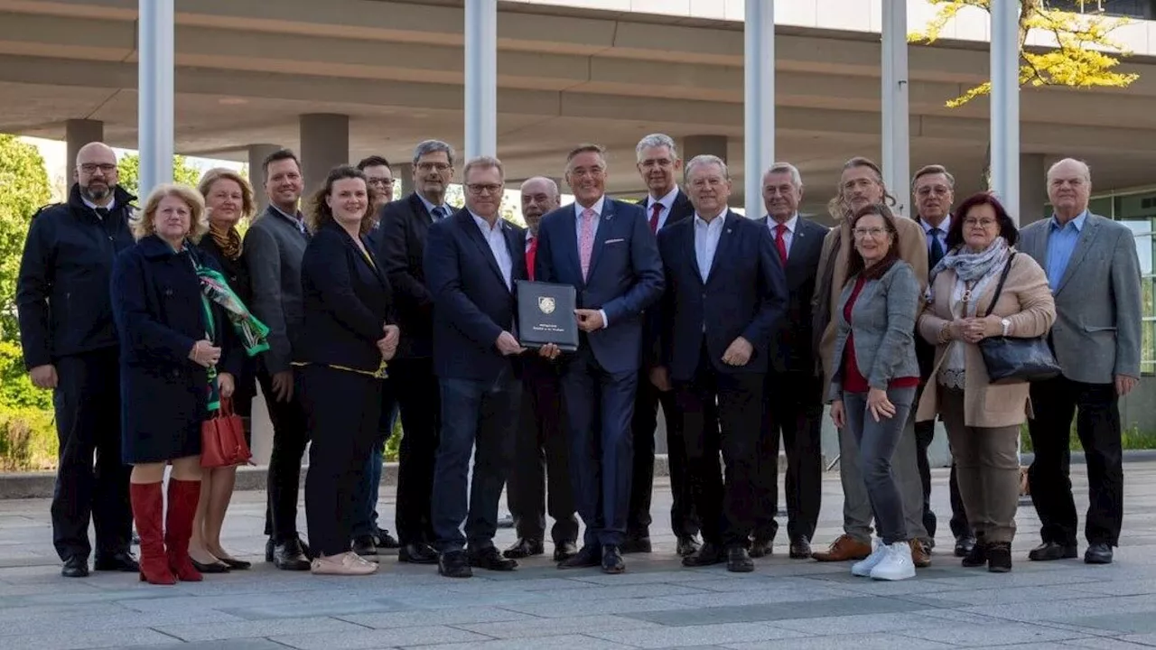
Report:
M237 226L257 212L253 189L236 171L216 168L205 172L198 190L205 197L209 223L207 236L201 238L198 248L206 253L206 257L217 263L229 287L244 304L249 304L252 288ZM243 355L239 372L235 377L231 406L234 413L239 415L245 424L245 442L249 444L252 444L250 415L255 394L255 359ZM197 505L197 517L193 519L193 538L188 544L188 556L201 573L220 574L251 567L249 562L237 560L221 546L221 527L224 525L236 479L236 466L207 468L201 472L201 498Z

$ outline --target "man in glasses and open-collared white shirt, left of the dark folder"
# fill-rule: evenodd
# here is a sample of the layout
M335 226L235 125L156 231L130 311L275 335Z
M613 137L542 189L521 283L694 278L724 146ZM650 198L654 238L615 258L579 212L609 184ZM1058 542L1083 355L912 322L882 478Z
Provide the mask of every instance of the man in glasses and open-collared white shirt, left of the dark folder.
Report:
M498 553L494 534L521 400L514 363L525 352L514 335L514 282L526 279L526 232L499 214L502 163L491 156L472 158L462 179L466 208L430 227L424 256L433 298L433 367L442 387L433 530L438 573L455 578L470 577L470 567L518 567ZM543 354L551 350L543 348Z

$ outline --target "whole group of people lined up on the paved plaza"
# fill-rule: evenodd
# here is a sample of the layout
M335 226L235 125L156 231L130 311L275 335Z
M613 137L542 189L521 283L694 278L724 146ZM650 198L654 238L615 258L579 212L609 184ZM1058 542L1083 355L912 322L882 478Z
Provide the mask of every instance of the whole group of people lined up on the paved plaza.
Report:
M112 149L83 147L68 201L31 223L17 287L31 379L54 390L64 575L88 575L90 519L97 570L172 584L249 568L220 539L236 467L201 467L201 424L218 409L247 418L258 386L274 427L266 560L279 569L365 575L397 548L449 577L513 570L544 553L549 514L558 568L622 573L624 554L653 551L659 407L684 566L750 571L772 553L781 438L790 556L914 576L936 532L936 419L963 564L1011 568L1025 421L1043 522L1029 557L1075 557L1076 411L1084 560L1112 561L1140 272L1131 231L1088 212L1085 164L1054 164L1054 214L1020 230L993 195L955 207L939 165L912 180L917 214L896 215L879 167L855 157L828 228L799 215L788 163L763 173L766 213L748 219L728 207L721 158L683 164L665 134L636 153L645 199L607 197L603 149L584 145L565 161L572 204L548 177L521 184L524 229L501 216L505 170L491 156L462 165L462 208L446 204L459 161L437 140L415 148L407 197L393 200L390 163L371 156L333 169L302 206L299 161L282 149L261 169L269 205L242 236L255 200L236 172L160 186L138 214ZM523 346L523 281L575 288L576 352ZM993 338L1046 340L1061 374L993 383L981 349ZM813 552L827 404L844 533ZM394 538L375 507L399 414ZM499 552L504 488L518 539Z

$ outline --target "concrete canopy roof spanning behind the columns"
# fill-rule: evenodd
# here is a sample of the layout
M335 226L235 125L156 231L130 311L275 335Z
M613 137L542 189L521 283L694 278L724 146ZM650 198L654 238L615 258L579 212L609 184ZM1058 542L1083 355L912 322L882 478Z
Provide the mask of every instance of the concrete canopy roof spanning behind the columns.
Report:
M405 162L425 138L462 141L460 1L177 0L176 150L245 160L250 143L299 146L298 116L350 117L350 160ZM0 132L64 136L105 123L136 146L136 0L0 0ZM822 204L843 161L879 156L877 35L780 27L776 157ZM511 178L561 176L581 141L609 147L613 192L643 191L633 146L650 132L725 135L742 177L742 23L499 3L498 155ZM986 98L944 101L987 79L985 44L910 51L911 168L938 162L979 186ZM1098 189L1153 182L1156 65L1127 90L1025 90L1022 149L1081 156ZM741 189L736 183L736 190ZM740 205L741 200L733 200Z

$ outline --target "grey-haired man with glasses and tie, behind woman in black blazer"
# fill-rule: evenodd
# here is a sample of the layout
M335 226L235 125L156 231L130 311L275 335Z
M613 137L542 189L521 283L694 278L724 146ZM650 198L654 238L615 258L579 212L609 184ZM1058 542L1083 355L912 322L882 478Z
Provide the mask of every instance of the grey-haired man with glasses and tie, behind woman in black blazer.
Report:
M414 193L386 204L378 220L377 256L385 265L397 298L401 344L391 363L391 379L406 435L398 467L398 561L437 563L430 519L433 459L442 408L433 371L433 297L425 286L422 257L431 223L452 209L445 190L453 178L453 147L425 140L414 149Z

